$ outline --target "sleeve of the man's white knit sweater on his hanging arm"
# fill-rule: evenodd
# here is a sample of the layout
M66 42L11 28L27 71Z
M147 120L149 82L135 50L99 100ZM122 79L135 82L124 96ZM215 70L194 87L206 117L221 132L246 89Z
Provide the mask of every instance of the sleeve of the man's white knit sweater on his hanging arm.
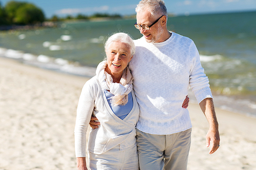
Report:
M189 56L192 60L190 66L189 86L194 92L198 103L206 98L212 98L208 77L204 74L204 68L200 62L200 56L194 42L191 43Z

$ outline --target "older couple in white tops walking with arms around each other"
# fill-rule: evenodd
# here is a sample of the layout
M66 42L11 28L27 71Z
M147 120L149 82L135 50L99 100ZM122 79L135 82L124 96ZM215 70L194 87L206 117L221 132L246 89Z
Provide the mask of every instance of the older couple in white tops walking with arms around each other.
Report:
M82 88L75 126L78 169L87 169L89 124L91 169L186 169L189 86L209 122L209 153L219 147L209 81L196 45L167 30L162 0L142 0L136 12L135 27L143 37L133 41L125 33L112 35L104 46L106 60Z

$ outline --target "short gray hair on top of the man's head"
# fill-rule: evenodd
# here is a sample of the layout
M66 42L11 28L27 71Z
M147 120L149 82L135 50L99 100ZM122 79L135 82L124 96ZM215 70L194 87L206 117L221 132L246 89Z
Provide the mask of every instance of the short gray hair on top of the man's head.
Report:
M152 16L165 15L168 17L167 9L163 0L142 0L137 5L135 11L139 12L148 8Z

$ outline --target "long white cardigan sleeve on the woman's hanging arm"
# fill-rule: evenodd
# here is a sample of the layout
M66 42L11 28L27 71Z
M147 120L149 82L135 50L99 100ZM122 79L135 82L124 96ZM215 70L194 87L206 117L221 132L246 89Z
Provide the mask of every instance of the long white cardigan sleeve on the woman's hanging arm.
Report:
M89 81L84 84L79 98L75 125L76 157L86 157L86 134L94 110L94 98Z

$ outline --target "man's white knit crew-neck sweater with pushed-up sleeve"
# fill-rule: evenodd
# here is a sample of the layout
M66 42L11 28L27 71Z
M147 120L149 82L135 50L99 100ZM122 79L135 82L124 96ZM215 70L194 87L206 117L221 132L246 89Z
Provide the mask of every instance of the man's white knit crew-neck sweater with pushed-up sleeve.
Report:
M198 103L212 98L195 43L176 33L160 43L147 43L144 37L134 42L129 68L140 107L137 128L158 135L190 129L188 110L181 107L189 86Z

